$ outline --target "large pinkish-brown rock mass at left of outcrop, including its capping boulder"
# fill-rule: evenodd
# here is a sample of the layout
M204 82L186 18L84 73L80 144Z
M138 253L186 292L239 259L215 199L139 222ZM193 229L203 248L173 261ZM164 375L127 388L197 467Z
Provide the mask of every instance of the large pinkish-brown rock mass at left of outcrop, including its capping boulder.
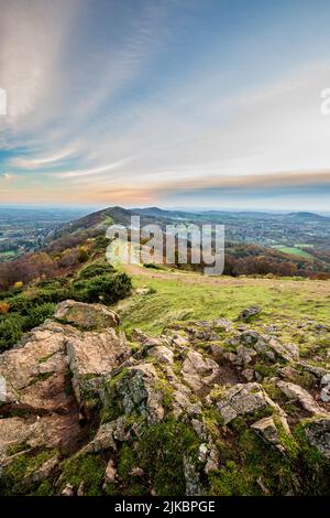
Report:
M0 376L6 381L0 420L0 449L25 443L31 447L70 450L84 440L81 411L95 377L118 367L129 354L123 335L112 327L118 319L100 304L66 301L55 317L28 333L18 346L0 355ZM64 324L65 320L70 324ZM78 326L79 328L77 328ZM22 417L11 417L15 413Z

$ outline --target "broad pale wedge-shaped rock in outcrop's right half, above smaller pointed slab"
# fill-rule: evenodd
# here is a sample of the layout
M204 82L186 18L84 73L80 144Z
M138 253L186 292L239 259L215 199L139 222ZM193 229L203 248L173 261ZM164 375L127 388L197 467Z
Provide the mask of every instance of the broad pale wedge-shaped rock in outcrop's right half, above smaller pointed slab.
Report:
M262 386L256 382L234 385L226 392L217 407L220 410L224 424L230 423L238 416L250 414L267 407L280 411L279 407L272 401Z

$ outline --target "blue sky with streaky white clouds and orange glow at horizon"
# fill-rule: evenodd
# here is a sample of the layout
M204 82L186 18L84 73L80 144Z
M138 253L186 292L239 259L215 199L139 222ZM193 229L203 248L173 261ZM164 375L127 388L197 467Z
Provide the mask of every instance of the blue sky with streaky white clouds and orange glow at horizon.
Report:
M329 25L328 0L0 0L0 203L329 211Z

